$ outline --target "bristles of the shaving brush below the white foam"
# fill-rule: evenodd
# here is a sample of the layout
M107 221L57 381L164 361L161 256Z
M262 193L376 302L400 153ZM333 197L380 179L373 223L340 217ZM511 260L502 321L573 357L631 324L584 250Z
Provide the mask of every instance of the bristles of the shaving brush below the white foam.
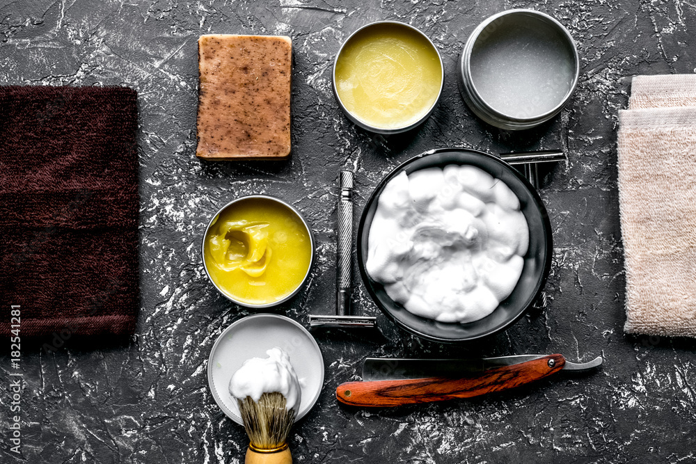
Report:
M285 445L295 422L295 411L285 408L283 394L264 393L258 402L246 397L237 399L237 404L252 447L277 449Z

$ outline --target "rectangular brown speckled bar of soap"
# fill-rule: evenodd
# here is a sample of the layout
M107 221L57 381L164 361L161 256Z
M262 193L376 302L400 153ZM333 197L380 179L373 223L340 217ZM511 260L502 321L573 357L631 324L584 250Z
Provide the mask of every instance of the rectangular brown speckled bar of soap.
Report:
M291 68L289 37L201 35L196 156L289 157Z

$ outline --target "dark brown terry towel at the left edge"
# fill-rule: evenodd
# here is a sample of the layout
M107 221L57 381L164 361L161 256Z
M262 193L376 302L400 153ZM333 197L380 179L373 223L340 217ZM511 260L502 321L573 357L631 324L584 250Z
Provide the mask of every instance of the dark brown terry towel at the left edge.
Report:
M129 88L0 86L0 334L134 331L137 124Z

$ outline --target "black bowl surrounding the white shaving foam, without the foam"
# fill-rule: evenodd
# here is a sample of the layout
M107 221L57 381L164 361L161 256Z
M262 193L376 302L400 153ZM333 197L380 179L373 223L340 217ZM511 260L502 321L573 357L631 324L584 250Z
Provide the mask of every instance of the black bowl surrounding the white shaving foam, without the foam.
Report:
M529 225L529 249L524 256L522 275L512 294L487 317L470 323L445 323L416 316L389 298L384 287L379 282L372 280L365 271L367 237L374 211L377 209L377 198L382 193L384 186L402 171L410 174L425 168L444 168L448 164L476 166L496 179L505 182L519 198L522 213ZM367 200L358 226L358 266L370 296L398 326L419 337L436 342L465 342L485 337L505 330L517 321L537 301L541 291L544 290L548 271L551 269L552 247L551 223L548 222L548 214L546 214L546 208L544 208L539 194L531 184L515 168L500 158L484 152L462 148L431 150L411 158L395 168L379 183L370 199Z

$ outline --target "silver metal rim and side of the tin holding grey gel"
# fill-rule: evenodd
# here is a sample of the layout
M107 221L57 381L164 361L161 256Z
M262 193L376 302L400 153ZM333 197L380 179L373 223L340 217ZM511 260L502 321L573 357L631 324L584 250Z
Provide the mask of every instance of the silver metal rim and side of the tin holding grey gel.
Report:
M568 42L568 45L570 45L570 48L573 51L573 61L575 67L574 77L571 86L568 89L567 93L564 95L564 97L560 100L560 102L552 109L544 113L540 113L539 115L530 116L529 118L517 118L511 115L507 115L502 111L498 111L494 109L492 106L490 106L483 99L483 97L481 97L480 93L476 89L475 83L473 82L473 79L471 77L470 68L471 52L473 51L473 47L477 42L482 31L484 31L484 29L486 29L491 23L493 23L497 19L500 19L501 17L520 14L535 16L553 25L554 28L564 36L564 38ZM504 128L506 129L528 129L530 127L535 127L553 118L553 116L560 113L560 111L563 109L563 106L567 104L571 95L573 95L578 86L578 79L580 77L580 56L578 55L578 47L572 35L570 35L568 29L566 29L565 26L563 26L563 24L561 24L557 19L551 17L550 15L547 15L546 13L542 13L541 11L530 10L528 8L514 8L512 10L505 10L501 11L500 13L496 13L495 15L492 15L487 19L484 19L484 21L481 22L481 24L476 26L476 29L473 30L473 32L469 35L469 38L466 40L466 45L464 45L464 49L461 52L459 74L461 83L464 87L464 92L467 94L468 100L470 100L470 102L472 103L472 105L470 105L472 106L471 109L475 113L477 113L477 115L479 115L482 119L496 126L504 125Z

